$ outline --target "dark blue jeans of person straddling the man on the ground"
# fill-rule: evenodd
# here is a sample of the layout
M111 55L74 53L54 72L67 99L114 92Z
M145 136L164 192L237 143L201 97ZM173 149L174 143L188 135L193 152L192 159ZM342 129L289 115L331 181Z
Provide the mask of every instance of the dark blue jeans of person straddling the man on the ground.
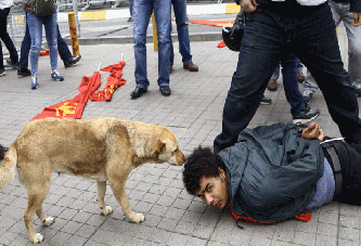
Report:
M318 81L328 112L346 141L361 142L354 88L344 69L328 3L302 7L296 1L259 4L249 13L238 64L223 108L222 132L214 151L232 146L256 114L272 73L286 51L294 53Z

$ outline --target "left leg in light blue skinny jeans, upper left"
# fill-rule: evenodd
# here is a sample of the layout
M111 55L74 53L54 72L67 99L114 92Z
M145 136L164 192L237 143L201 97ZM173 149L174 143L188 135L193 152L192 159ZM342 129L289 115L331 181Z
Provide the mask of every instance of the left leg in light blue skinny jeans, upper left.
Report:
M31 48L30 48L30 63L31 75L38 74L39 54L41 49L42 39L42 18L36 16L34 13L27 13L27 25L29 27Z

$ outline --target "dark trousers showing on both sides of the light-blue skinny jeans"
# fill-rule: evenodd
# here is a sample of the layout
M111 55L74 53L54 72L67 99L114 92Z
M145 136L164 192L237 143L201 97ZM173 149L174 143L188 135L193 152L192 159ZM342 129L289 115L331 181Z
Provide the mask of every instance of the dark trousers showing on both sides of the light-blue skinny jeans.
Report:
M59 25L56 24L56 31L57 31L57 50L61 59L63 62L67 62L69 59L73 57L69 49L67 48L66 42L64 41L60 29ZM18 67L28 67L29 64L29 51L31 48L31 38L30 38L30 33L29 33L29 27L26 24L26 30L25 30L25 36L22 42L22 48L21 48L21 59L18 61Z

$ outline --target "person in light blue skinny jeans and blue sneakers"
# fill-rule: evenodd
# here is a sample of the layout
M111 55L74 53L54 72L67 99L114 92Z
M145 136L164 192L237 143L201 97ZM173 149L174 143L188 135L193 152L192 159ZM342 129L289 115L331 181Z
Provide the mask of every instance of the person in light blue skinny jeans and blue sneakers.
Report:
M51 74L53 80L63 81L64 77L57 72L57 35L56 35L56 12L46 16L38 16L33 12L30 0L23 0L26 12L27 25L31 37L30 63L31 63L31 89L38 85L38 63L42 41L42 25L46 28L46 36L49 46Z

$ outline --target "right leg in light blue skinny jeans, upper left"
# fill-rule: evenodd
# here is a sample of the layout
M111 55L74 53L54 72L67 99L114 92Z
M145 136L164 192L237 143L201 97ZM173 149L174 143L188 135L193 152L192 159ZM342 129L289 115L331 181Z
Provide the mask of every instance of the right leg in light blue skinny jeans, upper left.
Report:
M44 18L46 36L49 46L51 69L57 69L57 31L56 13Z

